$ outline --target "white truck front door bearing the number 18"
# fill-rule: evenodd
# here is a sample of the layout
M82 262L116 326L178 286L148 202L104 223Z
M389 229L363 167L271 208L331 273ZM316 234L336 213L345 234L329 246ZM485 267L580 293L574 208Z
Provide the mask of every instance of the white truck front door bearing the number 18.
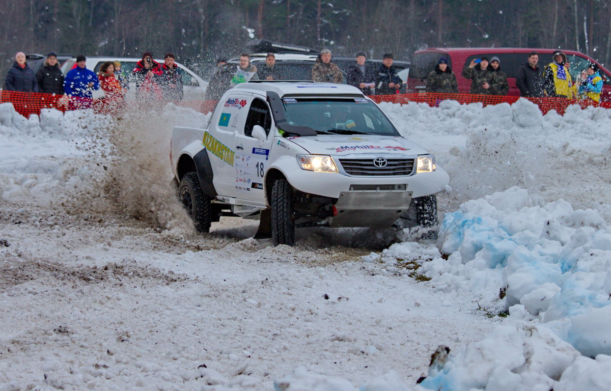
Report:
M265 202L263 193L263 178L269 163L269 150L274 140L269 136L271 131L271 112L263 97L253 95L249 102L246 122L238 131L236 142L235 169L238 179L240 198ZM265 142L260 142L252 136L252 128L260 125L268 136Z

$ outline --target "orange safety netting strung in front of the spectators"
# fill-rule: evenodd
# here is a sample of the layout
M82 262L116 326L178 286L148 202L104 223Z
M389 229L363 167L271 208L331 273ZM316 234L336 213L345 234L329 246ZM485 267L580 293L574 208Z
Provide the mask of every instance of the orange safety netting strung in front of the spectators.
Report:
M489 104L515 103L519 97L504 97L495 95L470 95L466 93L404 93L397 95L373 95L370 97L376 103L390 102L405 104L408 102L426 103L429 106L438 106L443 100L455 100L460 104L482 103L484 106ZM588 106L611 108L611 102L597 103L591 100L575 100L565 98L526 98L539 106L541 112L546 114L555 110L558 114L565 114L566 108L571 104L579 104L582 109ZM106 112L112 114L117 111L116 101L105 101L104 98L89 99L78 97L67 97L66 95L54 95L48 93L0 91L0 101L10 102L15 107L15 111L24 117L30 114L40 115L40 110L52 108L62 112L75 109L92 108L96 112ZM120 104L130 104L129 101ZM179 106L194 109L199 112L207 113L213 111L217 101L196 100L175 102Z

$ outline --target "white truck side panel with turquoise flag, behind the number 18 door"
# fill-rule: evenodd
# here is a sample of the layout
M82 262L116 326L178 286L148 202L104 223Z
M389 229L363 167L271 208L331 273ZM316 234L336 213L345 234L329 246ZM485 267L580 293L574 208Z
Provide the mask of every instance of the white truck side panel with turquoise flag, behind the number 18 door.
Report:
M239 198L243 195L243 192L238 190L238 186L243 184L239 180L240 167L236 167L236 141L238 132L244 129L248 103L251 100L252 93L234 92L225 95L219 101L208 131L204 134L202 144L208 151L214 172L214 188L219 195ZM241 166L241 163L238 166Z

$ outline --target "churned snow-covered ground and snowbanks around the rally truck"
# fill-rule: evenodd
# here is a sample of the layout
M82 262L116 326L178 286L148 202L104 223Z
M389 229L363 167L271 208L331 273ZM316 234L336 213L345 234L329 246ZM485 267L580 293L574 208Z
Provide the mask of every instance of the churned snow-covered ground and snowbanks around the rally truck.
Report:
M204 115L0 104L0 390L607 390L611 111L381 107L450 174L438 243L199 235L167 153Z

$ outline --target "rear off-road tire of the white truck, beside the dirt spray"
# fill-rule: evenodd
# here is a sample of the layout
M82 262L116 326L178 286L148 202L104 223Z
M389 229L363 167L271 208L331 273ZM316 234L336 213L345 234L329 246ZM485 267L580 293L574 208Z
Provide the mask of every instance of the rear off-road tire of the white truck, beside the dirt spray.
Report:
M210 232L212 199L202 191L195 172L188 172L178 186L178 199L198 232Z

